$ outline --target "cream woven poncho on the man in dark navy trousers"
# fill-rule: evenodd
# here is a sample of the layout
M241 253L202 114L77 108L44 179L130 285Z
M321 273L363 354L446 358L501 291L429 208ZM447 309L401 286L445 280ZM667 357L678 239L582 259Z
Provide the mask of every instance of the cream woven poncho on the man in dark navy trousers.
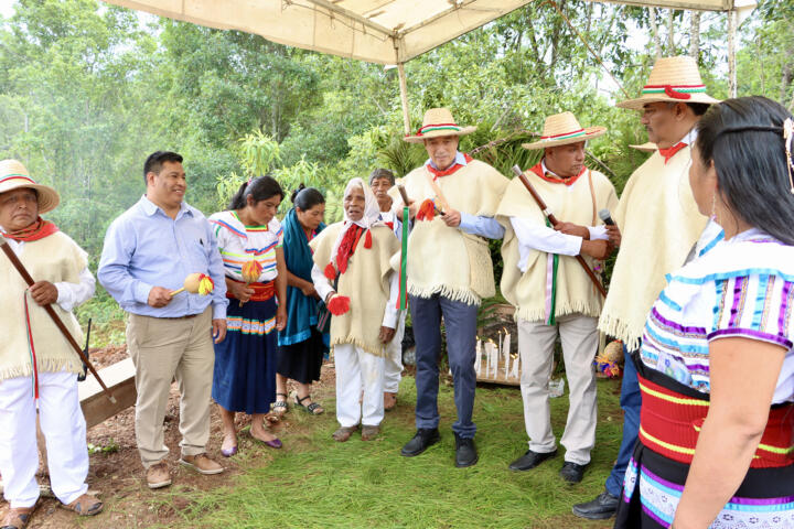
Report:
M436 198L425 165L404 179L408 197L420 204ZM430 177L432 175L430 174ZM454 173L436 180L450 207L478 216L493 217L509 181L487 163L472 160ZM395 204L403 201L390 191ZM512 231L509 224L506 231ZM408 293L419 298L441 294L453 301L479 305L496 293L487 241L447 226L440 215L417 220L408 237Z

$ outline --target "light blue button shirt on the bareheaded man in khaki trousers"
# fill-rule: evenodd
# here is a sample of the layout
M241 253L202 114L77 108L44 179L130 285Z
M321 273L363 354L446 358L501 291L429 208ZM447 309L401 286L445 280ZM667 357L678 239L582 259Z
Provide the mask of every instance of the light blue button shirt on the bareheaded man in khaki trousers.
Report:
M182 292L165 306L147 303L153 287L181 289L184 279L201 272L215 282L210 295ZM201 314L212 303L213 319L226 317L224 266L206 217L184 202L176 218L144 196L116 220L105 235L99 282L127 312L153 317Z

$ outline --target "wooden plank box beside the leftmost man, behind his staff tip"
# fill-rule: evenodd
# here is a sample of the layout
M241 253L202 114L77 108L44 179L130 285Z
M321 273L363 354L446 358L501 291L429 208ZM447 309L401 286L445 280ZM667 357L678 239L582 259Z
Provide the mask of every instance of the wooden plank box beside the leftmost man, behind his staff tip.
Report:
M135 365L131 358L99 369L99 376L112 391L117 402L111 403L103 392L99 382L93 375L88 375L85 381L77 385L87 428L99 424L135 404L138 396L135 386Z

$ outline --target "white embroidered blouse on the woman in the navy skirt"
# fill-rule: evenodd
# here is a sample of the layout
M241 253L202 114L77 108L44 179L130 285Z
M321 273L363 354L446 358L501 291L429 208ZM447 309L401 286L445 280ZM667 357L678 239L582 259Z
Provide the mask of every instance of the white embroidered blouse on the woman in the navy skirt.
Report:
M267 226L245 226L237 213L218 212L210 217L226 276L243 281L243 264L257 260L262 266L259 282L276 279L276 248L283 244L281 223L273 217Z

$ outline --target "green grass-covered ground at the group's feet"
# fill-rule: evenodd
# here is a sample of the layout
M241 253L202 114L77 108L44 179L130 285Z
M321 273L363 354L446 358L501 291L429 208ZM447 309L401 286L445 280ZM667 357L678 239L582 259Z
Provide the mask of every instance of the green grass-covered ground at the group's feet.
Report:
M570 515L571 505L592 499L618 453L621 415L618 381L599 381L599 428L593 461L581 484L570 486L558 471L560 456L526 473L507 464L526 450L517 388L478 388L475 415L480 462L453 466L454 420L451 386L441 386L441 442L417 457L399 450L414 434L414 379L403 380L398 408L388 412L382 436L364 443L355 434L336 443L332 395L329 412L309 417L290 411L281 451L246 451L244 472L234 483L207 493L191 493L180 527L206 528L573 528L611 527ZM321 396L322 397L322 396ZM567 393L551 400L555 433L560 435Z

